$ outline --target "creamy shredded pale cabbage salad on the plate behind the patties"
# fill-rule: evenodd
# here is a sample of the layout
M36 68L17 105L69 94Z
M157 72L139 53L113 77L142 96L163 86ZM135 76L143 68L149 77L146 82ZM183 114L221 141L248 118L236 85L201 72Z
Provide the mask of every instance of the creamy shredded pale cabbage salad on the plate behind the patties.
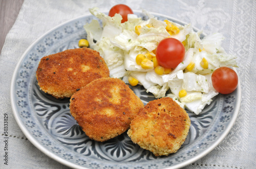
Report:
M220 33L200 38L202 31L195 32L191 24L180 25L170 21L180 30L178 34L170 35L166 31L166 23L158 20L146 10L142 13L148 17L143 20L135 14L129 14L127 21L121 23L122 17L115 14L110 17L91 8L90 12L102 21L92 20L84 25L90 47L97 50L104 58L110 70L110 76L123 78L125 82L129 76L139 80L146 92L152 93L155 98L173 98L182 108L199 114L203 108L210 104L218 92L212 87L211 74L222 66L237 67L236 57L227 54L222 48L223 35ZM140 35L135 33L135 26L141 26ZM151 26L147 26L151 25ZM185 58L174 70L168 74L158 75L154 68L143 69L136 63L138 54L151 53L158 43L167 38L176 38L184 42ZM200 65L202 59L208 61L208 68ZM191 63L195 67L188 71L186 67ZM179 97L179 91L185 89L187 95ZM167 94L167 91L171 93Z

